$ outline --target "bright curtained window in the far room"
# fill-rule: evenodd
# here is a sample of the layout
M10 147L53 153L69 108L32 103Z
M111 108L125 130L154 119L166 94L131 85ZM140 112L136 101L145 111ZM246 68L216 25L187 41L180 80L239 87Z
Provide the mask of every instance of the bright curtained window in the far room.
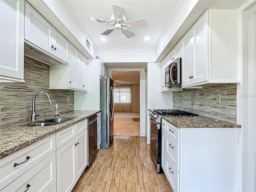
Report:
M114 86L114 103L131 103L131 86Z

